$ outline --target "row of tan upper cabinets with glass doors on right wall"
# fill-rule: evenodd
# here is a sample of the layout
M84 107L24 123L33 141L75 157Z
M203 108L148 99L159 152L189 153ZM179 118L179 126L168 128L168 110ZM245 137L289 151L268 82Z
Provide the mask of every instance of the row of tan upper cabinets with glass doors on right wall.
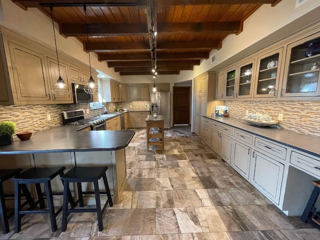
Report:
M319 71L320 26L317 26L235 62L233 67L219 70L215 99L319 100ZM196 86L200 89L199 83Z

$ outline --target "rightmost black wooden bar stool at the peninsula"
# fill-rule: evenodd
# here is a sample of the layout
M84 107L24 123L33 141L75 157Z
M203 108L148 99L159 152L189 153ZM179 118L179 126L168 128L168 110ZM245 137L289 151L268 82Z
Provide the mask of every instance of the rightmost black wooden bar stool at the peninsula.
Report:
M61 176L63 181L63 209L62 209L62 231L66 230L67 226L67 216L71 212L96 212L98 219L99 231L103 229L102 215L103 212L109 203L109 206L112 206L111 193L106 179L105 172L108 169L107 166L97 166L97 167L87 167L87 166L74 166L67 173ZM103 178L105 191L99 191L98 180ZM79 202L79 206L83 206L83 194L94 194L95 195L95 204L96 208L77 208L77 209L68 209L68 195L67 189L69 187L69 182L76 182L79 198L76 203ZM81 182L93 182L94 191L82 191ZM105 202L103 208L101 209L100 205L100 194L106 194L108 199Z

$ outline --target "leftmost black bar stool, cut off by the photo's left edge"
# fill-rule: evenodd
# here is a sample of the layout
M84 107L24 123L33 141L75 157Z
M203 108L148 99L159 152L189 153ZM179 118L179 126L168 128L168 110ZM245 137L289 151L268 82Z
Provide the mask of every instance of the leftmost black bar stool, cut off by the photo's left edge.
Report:
M14 196L14 194L5 194L3 191L3 182L8 180L9 178L15 176L16 174L22 171L21 168L14 168L14 169L0 169L0 218L1 218L1 227L3 234L8 233L9 223L8 219L13 216L14 211L7 214L7 209L5 205L5 197L7 196ZM21 189L23 191L24 196L26 197L26 201L22 204L22 206L29 204L30 208L33 208L34 201L26 187L25 184L21 185Z

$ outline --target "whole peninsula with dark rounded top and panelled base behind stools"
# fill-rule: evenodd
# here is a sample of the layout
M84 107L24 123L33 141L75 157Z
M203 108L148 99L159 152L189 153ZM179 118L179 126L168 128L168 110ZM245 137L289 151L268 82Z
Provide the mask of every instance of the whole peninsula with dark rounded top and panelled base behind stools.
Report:
M56 126L32 133L27 141L16 140L10 145L0 146L0 168L58 165L65 166L66 172L75 165L106 165L112 200L118 203L126 183L124 148L131 141L134 131L77 131L79 128L79 125ZM103 186L102 181L99 186ZM89 184L82 187L91 189ZM61 181L54 179L52 188L62 191ZM71 191L74 194L73 187ZM58 201L55 204L62 204L59 198L55 201Z

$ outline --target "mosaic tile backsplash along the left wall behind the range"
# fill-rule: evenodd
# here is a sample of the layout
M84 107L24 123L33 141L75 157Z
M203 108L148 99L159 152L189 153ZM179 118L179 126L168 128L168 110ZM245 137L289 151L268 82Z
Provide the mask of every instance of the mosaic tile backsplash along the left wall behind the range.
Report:
M108 112L115 108L129 107L129 110L146 110L149 101L104 102ZM130 108L131 105L131 108ZM0 121L13 121L17 131L39 131L62 124L61 111L84 109L85 117L98 115L97 109L90 110L88 103L84 104L43 104L43 105L0 105ZM89 112L87 113L87 110ZM47 120L50 114L51 120Z

